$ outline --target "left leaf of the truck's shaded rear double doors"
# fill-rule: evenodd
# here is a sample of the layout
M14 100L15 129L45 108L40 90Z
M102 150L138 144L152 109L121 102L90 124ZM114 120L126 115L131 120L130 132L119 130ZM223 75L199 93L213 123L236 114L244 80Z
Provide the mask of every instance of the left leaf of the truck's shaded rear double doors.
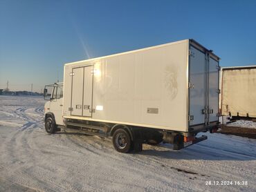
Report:
M204 124L205 115L202 110L205 108L205 54L193 46L190 47L190 83L194 88L190 88L190 115L194 120L190 125Z

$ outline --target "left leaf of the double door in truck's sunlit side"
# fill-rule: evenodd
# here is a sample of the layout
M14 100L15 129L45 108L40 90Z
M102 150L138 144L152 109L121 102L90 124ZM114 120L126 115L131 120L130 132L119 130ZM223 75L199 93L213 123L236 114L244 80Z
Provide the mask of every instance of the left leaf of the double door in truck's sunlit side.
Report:
M71 115L82 115L82 90L84 68L73 68Z

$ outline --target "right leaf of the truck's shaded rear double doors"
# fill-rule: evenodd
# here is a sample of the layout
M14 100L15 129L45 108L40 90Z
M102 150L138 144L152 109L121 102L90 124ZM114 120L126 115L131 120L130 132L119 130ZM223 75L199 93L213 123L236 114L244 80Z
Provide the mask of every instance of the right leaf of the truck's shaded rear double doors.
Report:
M218 121L219 117L217 113L219 111L219 66L218 61L210 58L209 62L209 109L212 111L209 115L209 122Z

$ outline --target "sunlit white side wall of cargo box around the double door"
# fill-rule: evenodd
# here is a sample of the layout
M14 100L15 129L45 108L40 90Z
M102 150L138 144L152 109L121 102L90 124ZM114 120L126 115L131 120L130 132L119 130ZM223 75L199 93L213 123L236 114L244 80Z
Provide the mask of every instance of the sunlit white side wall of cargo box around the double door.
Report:
M93 65L92 118L188 131L188 40L65 66ZM64 74L64 117L70 112L71 76Z

